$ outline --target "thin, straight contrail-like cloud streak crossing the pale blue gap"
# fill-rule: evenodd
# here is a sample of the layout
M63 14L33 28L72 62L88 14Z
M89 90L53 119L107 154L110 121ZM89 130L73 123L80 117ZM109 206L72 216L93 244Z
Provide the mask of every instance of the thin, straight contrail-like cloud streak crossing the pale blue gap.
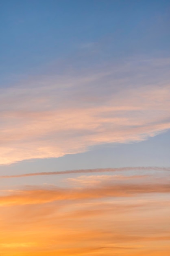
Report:
M18 175L2 175L0 178L19 178L29 176L41 175L65 175L74 173L106 173L116 171L170 171L170 167L156 167L156 166L138 166L138 167L120 167L120 168L96 168L96 169L79 169L70 171L54 171L54 172L41 172L41 173L25 173Z

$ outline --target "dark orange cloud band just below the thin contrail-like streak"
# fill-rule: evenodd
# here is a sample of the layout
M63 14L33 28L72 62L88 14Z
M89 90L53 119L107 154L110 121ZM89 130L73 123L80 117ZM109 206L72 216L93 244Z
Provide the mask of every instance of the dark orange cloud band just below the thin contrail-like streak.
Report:
M51 188L21 190L0 196L0 205L44 204L61 200L86 200L111 197L131 197L146 193L170 193L170 185L151 184L104 184L85 188Z

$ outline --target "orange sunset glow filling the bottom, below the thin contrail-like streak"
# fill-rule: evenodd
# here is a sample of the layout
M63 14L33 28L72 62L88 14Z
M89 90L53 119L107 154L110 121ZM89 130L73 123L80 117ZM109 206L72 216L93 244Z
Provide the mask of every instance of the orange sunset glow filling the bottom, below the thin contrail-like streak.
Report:
M123 176L116 176L115 182L114 177L98 175L94 182L95 175L80 176L71 179L74 184L69 188L7 191L0 196L0 253L167 256L170 252L167 182L162 182L160 188L153 179L149 188L145 176L129 177L130 183Z

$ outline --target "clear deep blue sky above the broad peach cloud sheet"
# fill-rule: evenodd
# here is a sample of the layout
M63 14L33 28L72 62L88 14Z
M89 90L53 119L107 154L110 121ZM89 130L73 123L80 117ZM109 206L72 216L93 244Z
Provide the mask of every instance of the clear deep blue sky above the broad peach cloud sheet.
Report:
M1 1L2 77L34 72L94 46L110 58L169 54L168 0ZM1 83L2 84L2 83Z

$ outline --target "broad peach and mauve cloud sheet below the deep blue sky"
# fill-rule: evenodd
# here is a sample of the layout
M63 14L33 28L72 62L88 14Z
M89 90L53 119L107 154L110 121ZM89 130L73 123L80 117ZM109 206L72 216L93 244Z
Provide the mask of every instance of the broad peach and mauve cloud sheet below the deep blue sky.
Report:
M170 128L170 60L42 75L0 90L0 164L61 157Z

